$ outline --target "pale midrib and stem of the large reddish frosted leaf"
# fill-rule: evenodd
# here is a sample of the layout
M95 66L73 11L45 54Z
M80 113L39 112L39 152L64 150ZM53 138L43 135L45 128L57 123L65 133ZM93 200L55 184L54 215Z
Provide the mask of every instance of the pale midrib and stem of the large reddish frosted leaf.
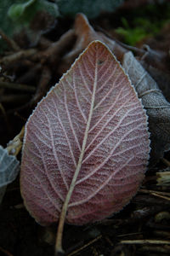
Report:
M81 150L81 154L77 163L77 169L75 171L75 174L72 178L71 181L71 186L70 189L68 190L68 193L65 197L65 202L63 204L61 213L60 213L60 217L59 217L59 226L58 226L58 230L57 230L57 236L56 236L56 241L55 241L55 255L59 255L59 253L64 253L64 250L62 248L62 236L63 236L63 230L64 230L64 224L65 224L65 216L66 216L66 212L67 212L67 208L68 208L68 204L69 201L71 199L71 195L73 192L73 189L75 188L75 184L77 182L77 176L78 173L80 172L80 169L82 167L82 158L85 152L85 147L86 147L86 143L88 140L88 131L89 131L89 127L90 127L90 122L92 119L92 115L93 115L93 111L94 111L94 99L95 99L95 93L96 93L96 87L97 87L97 61L95 63L95 76L94 76L94 90L93 90L93 95L92 95L92 102L91 102L91 106L90 106L90 111L88 114L88 122L86 125L86 130L84 132L84 138L83 138L83 142L82 142L82 150Z

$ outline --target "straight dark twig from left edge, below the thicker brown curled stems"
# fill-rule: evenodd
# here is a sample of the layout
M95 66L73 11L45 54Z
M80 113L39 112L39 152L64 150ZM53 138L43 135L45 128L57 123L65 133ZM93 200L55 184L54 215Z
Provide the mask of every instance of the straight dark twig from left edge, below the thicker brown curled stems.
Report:
M11 82L3 82L0 80L0 88L11 90L23 90L27 92L35 92L36 88L26 84L15 84Z

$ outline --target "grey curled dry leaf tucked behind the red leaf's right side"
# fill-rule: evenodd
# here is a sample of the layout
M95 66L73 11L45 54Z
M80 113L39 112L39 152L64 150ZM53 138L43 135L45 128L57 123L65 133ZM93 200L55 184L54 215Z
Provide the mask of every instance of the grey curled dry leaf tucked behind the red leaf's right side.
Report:
M141 97L149 116L151 158L150 164L155 164L170 149L170 103L162 95L144 68L137 61L132 52L124 55L123 65L128 73L138 96Z

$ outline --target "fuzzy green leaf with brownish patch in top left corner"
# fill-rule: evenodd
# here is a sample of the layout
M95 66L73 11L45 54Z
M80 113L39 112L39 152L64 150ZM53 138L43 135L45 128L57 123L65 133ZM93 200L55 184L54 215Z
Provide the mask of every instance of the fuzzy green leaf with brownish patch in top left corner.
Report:
M37 14L39 19L43 15L41 29ZM31 43L35 43L42 32L47 32L49 26L54 26L54 19L58 16L59 10L56 3L50 3L47 0L0 1L1 29L9 38L13 38L16 33L18 36L18 33L24 29ZM2 40L0 40L0 46L0 52L6 49L6 44Z

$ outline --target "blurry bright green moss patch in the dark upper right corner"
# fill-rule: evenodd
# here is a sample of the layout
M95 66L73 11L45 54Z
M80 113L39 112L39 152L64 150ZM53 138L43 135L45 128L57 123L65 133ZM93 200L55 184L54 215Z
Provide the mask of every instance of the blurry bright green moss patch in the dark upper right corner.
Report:
M135 45L146 37L156 36L162 26L170 22L170 4L148 5L144 9L135 9L122 18L122 26L116 32L124 43Z

